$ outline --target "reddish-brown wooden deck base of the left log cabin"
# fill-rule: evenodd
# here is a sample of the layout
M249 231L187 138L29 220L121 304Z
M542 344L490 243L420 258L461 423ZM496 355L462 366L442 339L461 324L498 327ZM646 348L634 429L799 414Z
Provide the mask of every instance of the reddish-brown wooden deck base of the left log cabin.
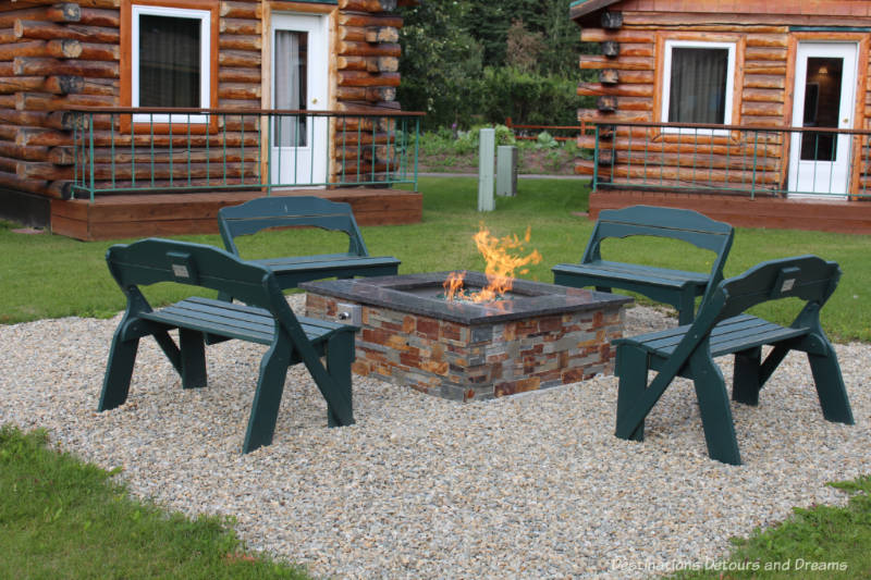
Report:
M108 195L51 200L52 233L83 240L218 233L218 210L261 197L262 192ZM278 195L315 195L351 203L359 225L417 223L424 196L400 189L292 189Z

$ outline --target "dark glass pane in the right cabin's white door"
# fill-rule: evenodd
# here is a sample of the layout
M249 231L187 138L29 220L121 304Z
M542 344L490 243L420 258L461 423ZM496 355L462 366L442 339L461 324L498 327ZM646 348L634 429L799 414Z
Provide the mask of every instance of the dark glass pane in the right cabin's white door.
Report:
M802 126L838 126L843 74L844 59L808 58ZM835 133L805 133L801 135L802 161L834 161L836 157L837 135Z

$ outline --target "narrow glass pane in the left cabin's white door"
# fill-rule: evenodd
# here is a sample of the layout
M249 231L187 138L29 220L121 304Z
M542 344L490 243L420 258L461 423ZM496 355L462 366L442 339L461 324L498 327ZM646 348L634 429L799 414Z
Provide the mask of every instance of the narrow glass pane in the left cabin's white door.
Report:
M275 109L303 111L308 102L308 33L275 30ZM273 143L280 147L308 145L307 118L281 115Z

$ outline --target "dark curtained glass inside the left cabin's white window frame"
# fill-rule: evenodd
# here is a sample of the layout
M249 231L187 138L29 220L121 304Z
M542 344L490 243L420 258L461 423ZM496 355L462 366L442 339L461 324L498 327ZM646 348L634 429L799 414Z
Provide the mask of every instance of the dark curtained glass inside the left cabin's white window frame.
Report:
M203 21L139 16L139 107L200 108Z

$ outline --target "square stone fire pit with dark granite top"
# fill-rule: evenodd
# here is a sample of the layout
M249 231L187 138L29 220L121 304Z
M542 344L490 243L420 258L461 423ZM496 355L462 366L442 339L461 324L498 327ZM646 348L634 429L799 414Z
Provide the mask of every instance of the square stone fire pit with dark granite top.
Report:
M300 284L306 313L361 326L354 372L455 400L613 371L625 296L514 280L494 301L445 300L447 272ZM467 288L488 279L467 272Z

